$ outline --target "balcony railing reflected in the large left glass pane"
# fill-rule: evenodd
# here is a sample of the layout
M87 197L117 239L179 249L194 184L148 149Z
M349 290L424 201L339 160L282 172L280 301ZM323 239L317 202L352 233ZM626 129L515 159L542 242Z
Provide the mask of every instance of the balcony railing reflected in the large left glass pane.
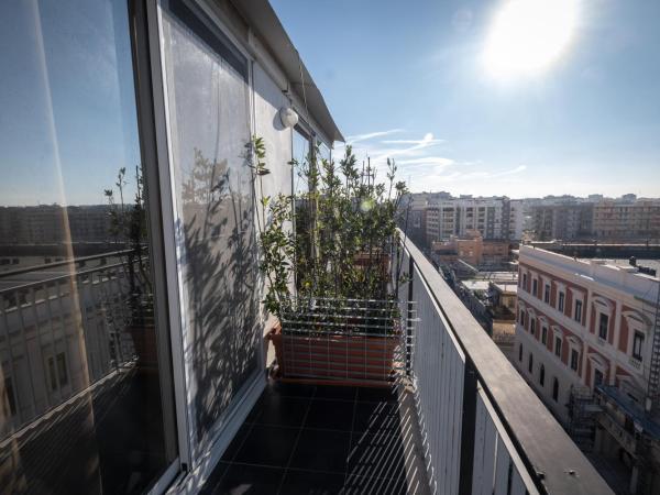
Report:
M0 442L131 367L124 254L0 273Z

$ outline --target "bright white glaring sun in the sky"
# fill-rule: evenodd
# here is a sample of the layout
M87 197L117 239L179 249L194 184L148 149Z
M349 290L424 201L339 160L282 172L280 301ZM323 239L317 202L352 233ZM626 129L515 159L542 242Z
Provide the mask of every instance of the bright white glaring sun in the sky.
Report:
M499 77L547 70L575 34L578 0L508 0L495 15L483 53Z

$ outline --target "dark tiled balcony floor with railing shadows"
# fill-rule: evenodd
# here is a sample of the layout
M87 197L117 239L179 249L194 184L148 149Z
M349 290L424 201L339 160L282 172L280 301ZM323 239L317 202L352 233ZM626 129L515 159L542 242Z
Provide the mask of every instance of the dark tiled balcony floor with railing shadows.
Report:
M271 382L205 494L429 493L413 395Z

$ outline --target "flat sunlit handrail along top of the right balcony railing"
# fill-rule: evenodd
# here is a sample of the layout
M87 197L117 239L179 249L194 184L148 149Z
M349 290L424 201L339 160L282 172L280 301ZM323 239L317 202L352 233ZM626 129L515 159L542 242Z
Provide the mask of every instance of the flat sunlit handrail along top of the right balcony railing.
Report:
M409 239L403 244L539 491L613 493L430 261Z

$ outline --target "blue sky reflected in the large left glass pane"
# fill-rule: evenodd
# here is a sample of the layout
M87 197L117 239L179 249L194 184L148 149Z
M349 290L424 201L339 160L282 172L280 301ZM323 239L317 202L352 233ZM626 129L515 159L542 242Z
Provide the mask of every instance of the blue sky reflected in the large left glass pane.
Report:
M0 2L0 205L105 204L140 163L121 1Z

